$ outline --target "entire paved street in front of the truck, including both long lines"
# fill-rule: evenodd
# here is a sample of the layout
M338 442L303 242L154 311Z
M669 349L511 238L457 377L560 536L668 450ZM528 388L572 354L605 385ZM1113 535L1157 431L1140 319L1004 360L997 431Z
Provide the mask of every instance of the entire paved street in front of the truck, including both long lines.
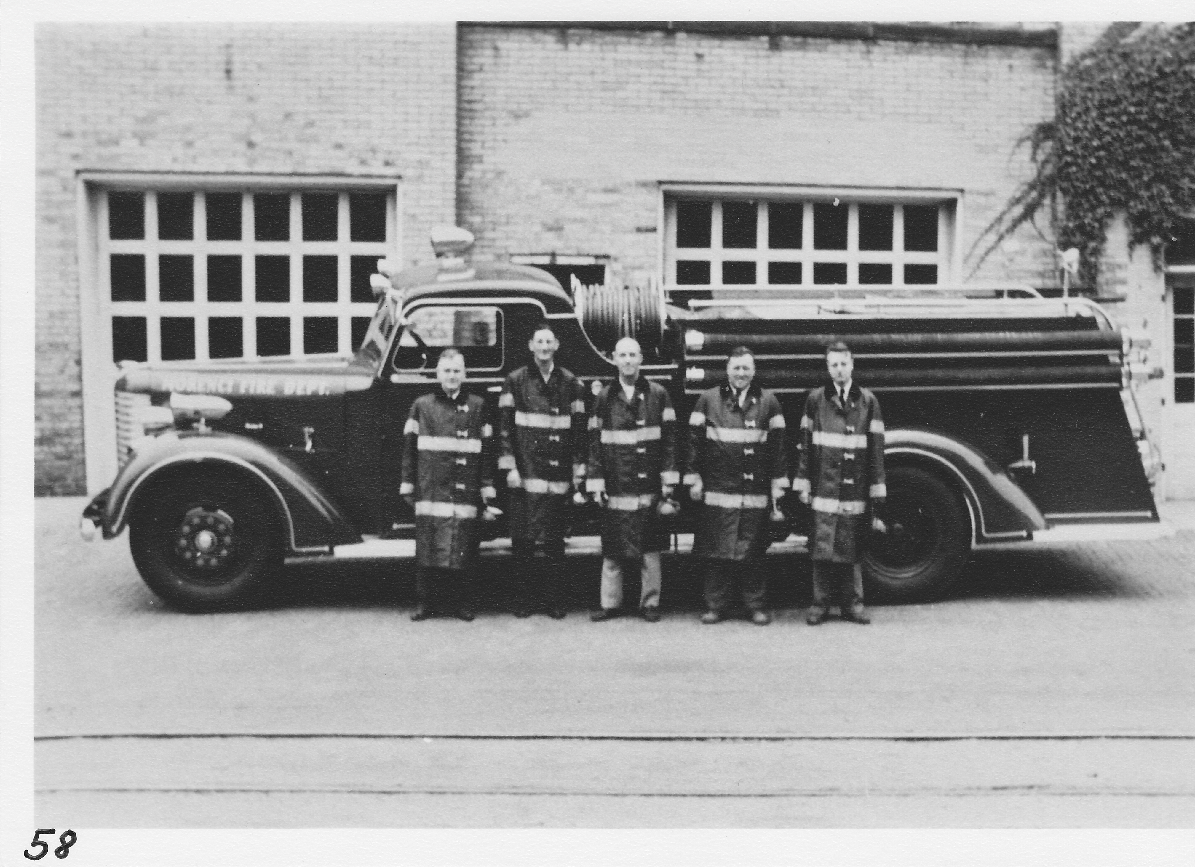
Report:
M1195 504L1154 541L973 554L948 599L804 626L411 623L410 576L294 567L268 609L186 615L127 537L37 521L36 816L96 826L1191 826ZM49 826L53 826L50 823Z

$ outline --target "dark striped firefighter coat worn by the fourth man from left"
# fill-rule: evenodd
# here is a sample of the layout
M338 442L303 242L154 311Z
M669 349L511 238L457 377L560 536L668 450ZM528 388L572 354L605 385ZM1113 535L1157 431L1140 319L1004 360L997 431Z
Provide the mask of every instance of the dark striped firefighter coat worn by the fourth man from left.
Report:
M784 435L780 401L754 383L742 407L729 386L698 396L685 472L686 485L704 487L694 554L746 560L767 549L772 487L789 486Z

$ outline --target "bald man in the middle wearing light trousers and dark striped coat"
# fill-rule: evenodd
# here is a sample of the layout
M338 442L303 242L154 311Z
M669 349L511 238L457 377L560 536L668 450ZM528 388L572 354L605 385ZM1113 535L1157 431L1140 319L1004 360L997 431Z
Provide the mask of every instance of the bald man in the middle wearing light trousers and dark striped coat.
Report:
M660 552L668 541L661 521L680 482L676 471L676 411L663 386L639 375L643 352L624 337L614 346L618 380L598 395L589 417L589 472L586 487L603 505L601 610L598 622L618 615L623 572L638 566L639 611L660 620Z

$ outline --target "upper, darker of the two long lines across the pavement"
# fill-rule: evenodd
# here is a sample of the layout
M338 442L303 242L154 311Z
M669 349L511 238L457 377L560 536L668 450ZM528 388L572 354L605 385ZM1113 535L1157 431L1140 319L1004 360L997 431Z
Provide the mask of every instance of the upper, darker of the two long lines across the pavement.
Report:
M35 742L48 740L219 740L256 738L261 740L625 740L625 742L799 742L799 740L1195 740L1195 734L1163 732L1055 734L286 734L271 732L116 733L116 734L41 734Z

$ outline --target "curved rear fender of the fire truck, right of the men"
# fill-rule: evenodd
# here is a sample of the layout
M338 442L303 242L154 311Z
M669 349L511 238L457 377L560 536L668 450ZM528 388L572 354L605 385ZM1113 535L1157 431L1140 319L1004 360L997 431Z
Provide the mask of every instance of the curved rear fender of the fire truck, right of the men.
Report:
M915 428L884 433L888 466L917 465L951 481L972 512L973 541L1029 539L1046 518L1004 468L964 439Z

